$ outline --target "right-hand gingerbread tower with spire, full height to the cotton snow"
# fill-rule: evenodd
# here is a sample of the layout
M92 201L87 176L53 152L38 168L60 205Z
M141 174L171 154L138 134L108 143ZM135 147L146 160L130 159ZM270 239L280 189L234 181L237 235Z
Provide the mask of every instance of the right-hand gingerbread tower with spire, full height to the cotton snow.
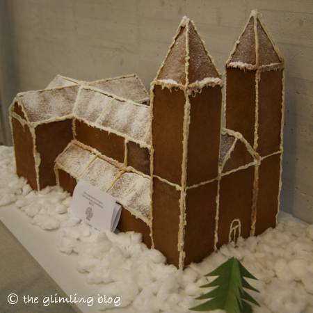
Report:
M225 106L226 127L239 131L259 160L255 168L252 234L260 234L276 223L283 106L284 59L262 15L252 10L226 63Z

